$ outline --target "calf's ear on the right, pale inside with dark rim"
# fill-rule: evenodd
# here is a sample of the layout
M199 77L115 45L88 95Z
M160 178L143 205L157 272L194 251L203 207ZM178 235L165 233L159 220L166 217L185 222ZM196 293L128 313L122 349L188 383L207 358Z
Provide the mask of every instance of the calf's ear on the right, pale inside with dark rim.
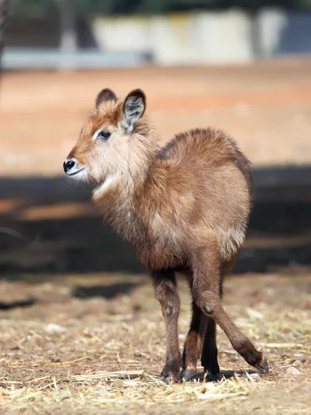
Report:
M123 105L123 122L127 132L130 133L134 124L144 115L146 96L141 89L134 89L126 96Z

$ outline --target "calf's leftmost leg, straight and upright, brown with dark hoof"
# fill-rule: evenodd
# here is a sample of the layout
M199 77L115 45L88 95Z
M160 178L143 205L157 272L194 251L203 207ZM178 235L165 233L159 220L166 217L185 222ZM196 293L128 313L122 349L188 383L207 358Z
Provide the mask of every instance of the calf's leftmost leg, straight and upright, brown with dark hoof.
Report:
M165 382L171 380L177 382L177 375L181 369L182 358L178 342L180 298L177 291L175 273L172 270L152 271L152 279L156 299L158 299L162 307L167 335L166 360L161 376Z

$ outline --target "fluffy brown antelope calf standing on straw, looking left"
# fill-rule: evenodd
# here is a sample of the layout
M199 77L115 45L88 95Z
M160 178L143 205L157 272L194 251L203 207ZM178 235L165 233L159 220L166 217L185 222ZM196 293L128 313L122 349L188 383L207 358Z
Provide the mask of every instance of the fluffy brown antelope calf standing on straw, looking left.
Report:
M191 378L199 356L205 378L218 378L216 324L249 365L267 373L263 354L221 305L223 279L249 219L249 162L232 138L214 129L180 133L160 147L145 106L140 89L125 100L110 89L101 91L64 171L95 183L98 212L151 270L167 334L163 380L176 381L180 369ZM187 275L193 297L183 356L176 271Z

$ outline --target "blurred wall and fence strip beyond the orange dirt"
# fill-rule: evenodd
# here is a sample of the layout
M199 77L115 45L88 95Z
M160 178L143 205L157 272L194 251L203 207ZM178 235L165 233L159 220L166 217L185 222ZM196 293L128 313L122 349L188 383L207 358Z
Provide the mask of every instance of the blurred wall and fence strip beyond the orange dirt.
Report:
M311 53L311 12L306 10L104 15L77 13L75 0L60 4L58 12L51 9L39 17L12 9L4 68L227 64Z

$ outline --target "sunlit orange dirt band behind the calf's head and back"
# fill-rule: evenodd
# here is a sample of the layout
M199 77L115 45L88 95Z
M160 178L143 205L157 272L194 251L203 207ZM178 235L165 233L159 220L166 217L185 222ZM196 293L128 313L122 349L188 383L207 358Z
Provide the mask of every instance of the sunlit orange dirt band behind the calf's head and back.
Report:
M249 66L4 73L0 175L62 174L95 95L147 93L162 141L193 127L221 127L254 165L310 164L311 60Z

